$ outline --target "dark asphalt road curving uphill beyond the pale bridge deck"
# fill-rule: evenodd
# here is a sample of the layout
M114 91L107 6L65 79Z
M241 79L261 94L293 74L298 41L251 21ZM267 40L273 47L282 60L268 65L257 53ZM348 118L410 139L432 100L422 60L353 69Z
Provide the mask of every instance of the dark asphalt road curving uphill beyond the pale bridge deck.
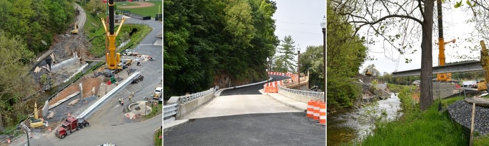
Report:
M273 77L273 79L269 82L280 81L280 80L290 78L288 76L280 76L280 75L270 75L270 77ZM222 91L220 96L262 94L259 91L260 89L263 89L263 84L257 84L257 85L246 86L246 87L235 88L235 89L227 89Z

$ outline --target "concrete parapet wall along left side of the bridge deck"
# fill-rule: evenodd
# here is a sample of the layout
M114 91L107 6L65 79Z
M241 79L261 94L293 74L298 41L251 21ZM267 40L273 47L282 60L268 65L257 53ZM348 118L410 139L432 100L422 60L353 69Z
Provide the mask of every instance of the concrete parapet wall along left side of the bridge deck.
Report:
M192 112L193 110L199 108L201 105L207 103L209 100L214 98L214 94L208 94L203 97L200 97L198 99L195 99L193 101L184 103L184 104L179 104L178 105L178 112L177 112L177 119L185 116L186 114Z

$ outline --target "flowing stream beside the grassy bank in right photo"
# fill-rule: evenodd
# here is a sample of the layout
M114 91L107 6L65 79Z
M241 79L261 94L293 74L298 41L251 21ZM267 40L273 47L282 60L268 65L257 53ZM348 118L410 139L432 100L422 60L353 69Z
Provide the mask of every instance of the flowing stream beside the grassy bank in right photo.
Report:
M401 116L398 93L391 93L391 97L377 103L343 112L336 112L327 116L327 145L338 146L342 143L360 142L373 128L374 121L382 113L385 120L392 121Z

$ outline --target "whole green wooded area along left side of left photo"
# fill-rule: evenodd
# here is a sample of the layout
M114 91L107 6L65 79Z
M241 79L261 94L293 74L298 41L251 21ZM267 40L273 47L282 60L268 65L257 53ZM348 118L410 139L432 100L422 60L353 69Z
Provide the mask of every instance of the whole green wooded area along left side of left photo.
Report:
M70 27L72 1L0 0L0 131L32 112L21 101L35 88L27 64Z

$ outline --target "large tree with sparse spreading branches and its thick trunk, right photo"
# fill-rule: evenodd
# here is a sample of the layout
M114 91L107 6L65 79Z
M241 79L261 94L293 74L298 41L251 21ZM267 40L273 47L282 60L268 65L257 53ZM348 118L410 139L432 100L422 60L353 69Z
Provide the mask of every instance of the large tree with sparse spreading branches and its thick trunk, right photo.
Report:
M385 43L401 54L411 51L412 46L410 44L412 42L405 42L404 40L406 39L402 42L399 41L400 38L421 32L421 34L418 34L422 37L420 108L427 110L433 103L430 94L430 76L433 62L432 38L435 0L331 1L333 10L347 17L348 22L355 25L355 34L361 27L368 27L368 34L383 37ZM421 31L417 31L420 28ZM401 30L403 32L392 32L393 30Z

